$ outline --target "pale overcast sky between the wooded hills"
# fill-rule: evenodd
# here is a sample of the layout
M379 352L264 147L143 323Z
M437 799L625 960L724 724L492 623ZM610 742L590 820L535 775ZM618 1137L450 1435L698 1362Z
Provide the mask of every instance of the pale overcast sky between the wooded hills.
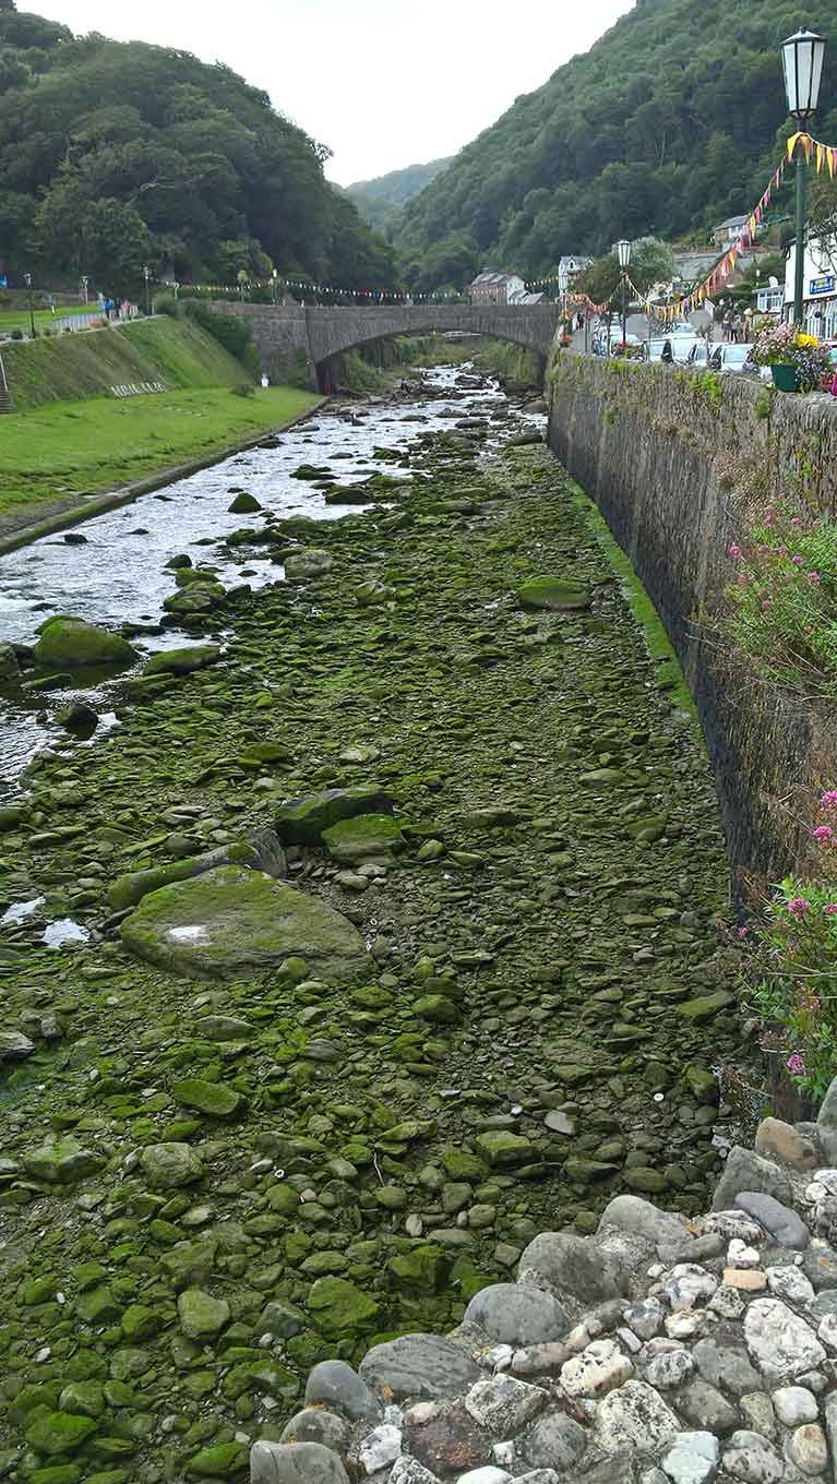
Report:
M76 33L223 61L328 144L349 186L454 154L634 0L18 0Z

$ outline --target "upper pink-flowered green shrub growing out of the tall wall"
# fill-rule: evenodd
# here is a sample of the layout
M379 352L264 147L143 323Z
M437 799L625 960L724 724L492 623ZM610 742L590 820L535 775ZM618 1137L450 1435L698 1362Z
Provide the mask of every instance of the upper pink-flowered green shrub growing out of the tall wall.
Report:
M727 555L729 635L760 677L806 699L837 696L837 522L787 496Z

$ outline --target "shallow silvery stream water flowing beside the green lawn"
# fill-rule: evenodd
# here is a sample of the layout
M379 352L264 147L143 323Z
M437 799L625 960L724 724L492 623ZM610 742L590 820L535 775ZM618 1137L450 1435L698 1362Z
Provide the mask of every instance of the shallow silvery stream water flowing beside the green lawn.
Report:
M227 586L245 580L260 588L282 577L282 567L270 556L242 562L215 549L252 519L230 513L232 491L246 485L266 513L279 516L325 521L356 513L362 506L326 505L324 493L295 479L294 470L303 463L328 464L332 484L353 485L390 469L386 460L375 460L375 450L402 451L418 433L450 429L476 408L494 413L499 430L508 427L509 402L496 381L457 387L470 372L470 364L424 371L426 387L438 392L435 399L341 404L315 413L257 448L80 522L73 530L85 537L83 545L68 543L68 533L58 533L1 556L0 640L30 644L46 616L71 613L108 628L148 625L150 632L140 641L148 651L183 646L181 629L153 631L163 600L174 591L174 574L165 570L171 556L191 554L196 564L211 564ZM534 426L545 421L533 414L516 416ZM491 439L487 447L491 448ZM408 478L410 473L399 470L399 479ZM119 681L102 683L101 677L82 672L71 689L52 689L49 700L42 692L0 690L0 797L15 792L22 770L42 746L65 735L50 715L68 700L91 700L102 712L96 735L113 726L108 693L117 690Z

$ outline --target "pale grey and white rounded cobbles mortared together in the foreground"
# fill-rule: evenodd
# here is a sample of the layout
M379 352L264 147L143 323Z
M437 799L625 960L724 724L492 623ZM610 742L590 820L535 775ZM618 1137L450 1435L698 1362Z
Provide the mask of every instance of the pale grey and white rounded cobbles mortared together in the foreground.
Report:
M453 1334L315 1365L251 1484L833 1484L837 1083L816 1125L764 1119L755 1146L702 1221L616 1196Z

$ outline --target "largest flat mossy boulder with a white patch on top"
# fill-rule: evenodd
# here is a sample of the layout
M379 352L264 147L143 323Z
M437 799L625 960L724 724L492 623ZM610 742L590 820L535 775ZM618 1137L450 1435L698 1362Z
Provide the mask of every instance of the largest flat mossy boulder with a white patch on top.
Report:
M237 865L151 892L120 933L137 957L190 979L242 978L289 957L338 978L367 959L361 933L332 907Z

